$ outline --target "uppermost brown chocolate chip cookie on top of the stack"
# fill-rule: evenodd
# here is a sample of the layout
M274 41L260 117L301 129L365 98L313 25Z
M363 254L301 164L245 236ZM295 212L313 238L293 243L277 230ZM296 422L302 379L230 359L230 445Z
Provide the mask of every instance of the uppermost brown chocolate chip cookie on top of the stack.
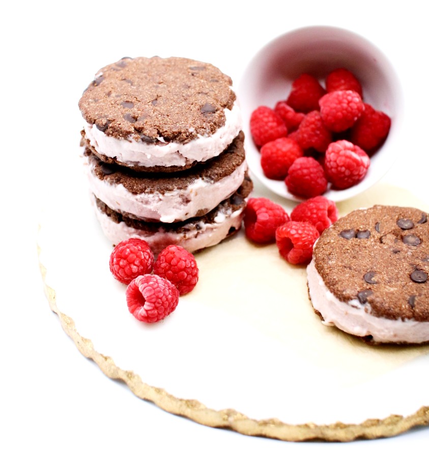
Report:
M79 108L107 136L186 143L224 125L224 110L236 99L231 84L208 63L125 57L96 74Z

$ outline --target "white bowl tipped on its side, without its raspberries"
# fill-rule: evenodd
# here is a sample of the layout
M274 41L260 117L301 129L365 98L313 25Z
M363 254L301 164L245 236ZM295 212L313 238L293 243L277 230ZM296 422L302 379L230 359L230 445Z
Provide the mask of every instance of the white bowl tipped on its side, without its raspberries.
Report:
M282 197L302 201L288 192L283 181L264 176L261 155L250 135L250 115L261 105L274 108L279 100L287 99L293 80L300 74L312 74L324 85L326 75L340 67L355 74L362 84L364 102L384 111L392 123L383 146L371 157L365 178L349 189L328 189L324 195L334 201L353 197L377 183L395 160L403 93L387 57L374 44L350 31L330 26L303 27L274 39L256 53L238 88L246 133L246 156L252 175Z

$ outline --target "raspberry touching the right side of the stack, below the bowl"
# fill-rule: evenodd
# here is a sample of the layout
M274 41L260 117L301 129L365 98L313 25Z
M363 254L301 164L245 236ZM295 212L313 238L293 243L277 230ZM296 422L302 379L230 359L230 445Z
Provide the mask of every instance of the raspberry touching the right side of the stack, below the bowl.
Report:
M268 198L249 198L244 211L246 237L253 242L264 244L275 241L278 226L289 221L289 215L280 205Z

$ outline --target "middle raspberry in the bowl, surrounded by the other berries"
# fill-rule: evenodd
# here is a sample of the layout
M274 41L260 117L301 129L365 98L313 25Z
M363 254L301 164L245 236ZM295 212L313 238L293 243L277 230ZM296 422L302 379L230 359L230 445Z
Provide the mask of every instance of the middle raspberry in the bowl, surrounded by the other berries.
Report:
M323 124L320 112L307 113L298 128L298 143L305 149L316 149L325 152L332 142L331 132Z

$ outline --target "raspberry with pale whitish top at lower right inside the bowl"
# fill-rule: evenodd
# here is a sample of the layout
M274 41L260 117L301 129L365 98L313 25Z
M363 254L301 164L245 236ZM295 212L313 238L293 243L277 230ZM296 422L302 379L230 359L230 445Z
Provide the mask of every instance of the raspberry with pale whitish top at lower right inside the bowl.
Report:
M359 183L368 167L368 155L348 140L332 142L326 150L326 174L337 189L347 189Z

